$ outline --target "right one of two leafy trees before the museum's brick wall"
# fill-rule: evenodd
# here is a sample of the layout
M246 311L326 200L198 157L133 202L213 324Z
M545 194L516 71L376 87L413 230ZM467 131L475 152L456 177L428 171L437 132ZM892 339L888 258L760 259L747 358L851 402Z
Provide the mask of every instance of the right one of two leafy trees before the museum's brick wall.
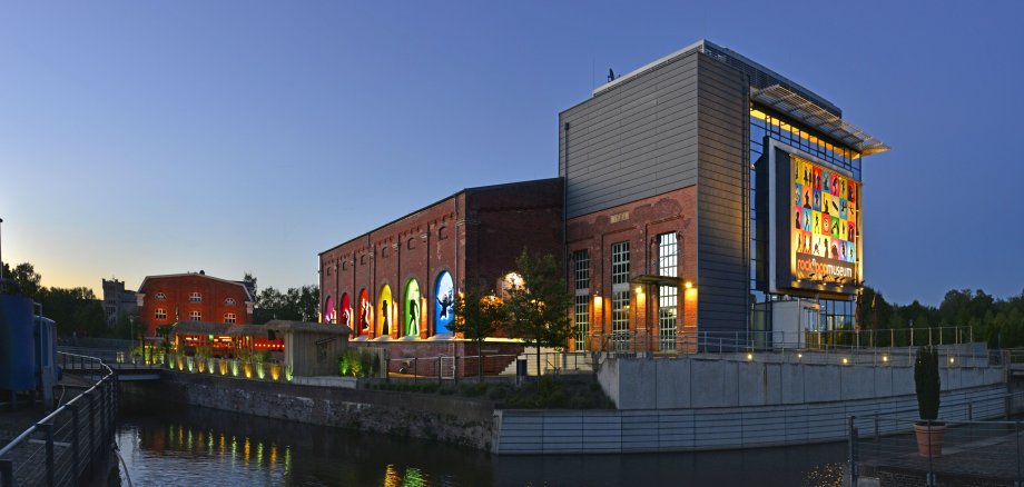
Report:
M523 252L515 259L522 284L509 289L509 335L536 347L536 370L541 370L541 347L564 347L572 336L572 296L554 256Z

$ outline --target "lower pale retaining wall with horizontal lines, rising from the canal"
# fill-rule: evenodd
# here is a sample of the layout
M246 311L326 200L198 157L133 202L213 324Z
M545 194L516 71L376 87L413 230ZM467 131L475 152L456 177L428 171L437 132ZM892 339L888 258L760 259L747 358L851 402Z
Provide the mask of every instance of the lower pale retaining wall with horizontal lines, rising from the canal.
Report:
M939 416L987 419L1006 414L1005 385L943 394ZM618 454L738 449L847 438L848 418L861 436L897 433L908 423L870 415L905 411L916 417L915 396L804 405L631 410L496 410L493 451L513 454Z

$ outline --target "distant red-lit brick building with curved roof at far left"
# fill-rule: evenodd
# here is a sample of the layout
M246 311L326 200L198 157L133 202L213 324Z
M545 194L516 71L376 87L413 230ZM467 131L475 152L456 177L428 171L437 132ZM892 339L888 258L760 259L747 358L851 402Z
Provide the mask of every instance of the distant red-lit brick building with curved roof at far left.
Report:
M146 336L178 321L253 322L254 299L245 282L198 274L146 276L138 290L139 318Z

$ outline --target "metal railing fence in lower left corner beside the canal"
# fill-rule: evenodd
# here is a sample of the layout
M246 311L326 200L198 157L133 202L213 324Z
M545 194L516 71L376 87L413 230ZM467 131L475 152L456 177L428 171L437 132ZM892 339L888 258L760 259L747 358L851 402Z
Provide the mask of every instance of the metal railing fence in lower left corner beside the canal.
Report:
M109 455L118 413L117 376L101 359L58 352L77 372L100 377L0 448L0 486L78 485ZM71 388L72 386L63 386Z

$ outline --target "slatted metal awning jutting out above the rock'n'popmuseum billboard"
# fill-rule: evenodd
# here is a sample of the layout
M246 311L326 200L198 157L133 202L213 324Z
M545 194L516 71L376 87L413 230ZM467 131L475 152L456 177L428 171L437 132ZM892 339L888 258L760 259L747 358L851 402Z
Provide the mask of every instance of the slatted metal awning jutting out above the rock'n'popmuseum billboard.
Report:
M861 156L870 156L890 149L889 146L875 139L864 130L843 121L841 118L782 86L751 87L750 99L835 139L837 142L860 152Z

